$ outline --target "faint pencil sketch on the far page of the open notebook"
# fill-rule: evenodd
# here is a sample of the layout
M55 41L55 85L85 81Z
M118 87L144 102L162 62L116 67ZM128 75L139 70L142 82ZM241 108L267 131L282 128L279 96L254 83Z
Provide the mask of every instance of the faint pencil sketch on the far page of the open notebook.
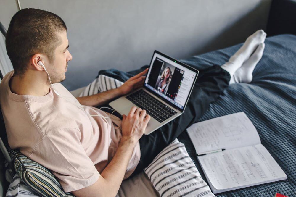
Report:
M239 135L243 133L244 130L247 130L247 128L244 126L244 124L238 120L235 117L232 118L223 118L221 120L223 124L221 124L221 130L225 137L231 137L235 135ZM234 124L234 122L239 122L238 124ZM241 123L241 124L240 124Z

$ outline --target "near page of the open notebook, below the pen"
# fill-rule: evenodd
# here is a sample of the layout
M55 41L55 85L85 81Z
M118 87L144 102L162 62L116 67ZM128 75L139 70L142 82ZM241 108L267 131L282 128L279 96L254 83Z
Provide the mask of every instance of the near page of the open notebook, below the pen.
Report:
M210 182L213 193L287 178L262 144L229 149L197 158ZM222 191L214 192L215 190Z

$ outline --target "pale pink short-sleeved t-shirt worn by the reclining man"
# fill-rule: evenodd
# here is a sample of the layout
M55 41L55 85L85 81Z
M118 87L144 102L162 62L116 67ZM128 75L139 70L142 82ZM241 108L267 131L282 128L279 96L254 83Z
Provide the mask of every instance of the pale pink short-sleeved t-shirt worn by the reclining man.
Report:
M9 146L50 169L65 192L95 183L117 150L122 136L121 120L93 117L75 106L78 100L60 83L54 84L59 95L17 95L12 93L7 73L0 84L0 103ZM76 102L76 103L75 103ZM91 115L109 114L83 106ZM126 170L129 177L140 160L139 142Z

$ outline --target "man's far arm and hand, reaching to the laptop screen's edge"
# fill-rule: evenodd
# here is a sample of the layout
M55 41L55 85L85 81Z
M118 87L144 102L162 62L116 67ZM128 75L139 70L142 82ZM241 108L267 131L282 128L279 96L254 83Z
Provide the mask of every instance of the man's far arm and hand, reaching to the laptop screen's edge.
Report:
M122 96L124 94L129 93L132 90L135 90L141 87L145 80L145 77L143 77L143 75L145 75L147 71L148 69L145 69L139 74L129 78L119 88L104 91L91 96L76 97L76 99L79 101L81 105L98 106L98 105L106 104L116 97Z

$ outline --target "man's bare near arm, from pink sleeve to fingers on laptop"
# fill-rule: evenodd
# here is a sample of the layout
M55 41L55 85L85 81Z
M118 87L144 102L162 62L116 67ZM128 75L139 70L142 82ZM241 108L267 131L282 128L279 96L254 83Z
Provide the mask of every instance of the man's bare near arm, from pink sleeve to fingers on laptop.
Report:
M75 196L116 196L131 159L133 148L144 134L150 120L145 110L132 107L128 116L123 115L122 138L111 162L93 185L73 191Z

